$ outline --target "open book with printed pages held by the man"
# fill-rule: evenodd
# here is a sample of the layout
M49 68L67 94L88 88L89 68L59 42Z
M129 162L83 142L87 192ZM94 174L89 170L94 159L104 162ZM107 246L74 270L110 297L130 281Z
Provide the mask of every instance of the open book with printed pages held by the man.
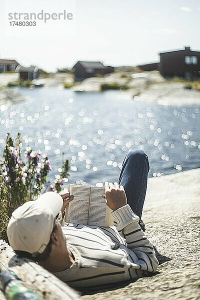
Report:
M69 184L68 191L74 196L66 208L65 222L83 225L112 226L112 211L102 195L104 187Z

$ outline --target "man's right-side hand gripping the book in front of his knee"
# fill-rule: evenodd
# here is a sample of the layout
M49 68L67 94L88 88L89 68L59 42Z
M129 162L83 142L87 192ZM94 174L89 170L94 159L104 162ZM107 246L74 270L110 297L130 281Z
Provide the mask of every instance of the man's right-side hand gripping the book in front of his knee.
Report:
M103 198L107 206L109 206L112 210L116 210L119 207L124 206L127 204L127 199L125 195L125 191L123 185L118 185L117 182L105 182L105 194Z

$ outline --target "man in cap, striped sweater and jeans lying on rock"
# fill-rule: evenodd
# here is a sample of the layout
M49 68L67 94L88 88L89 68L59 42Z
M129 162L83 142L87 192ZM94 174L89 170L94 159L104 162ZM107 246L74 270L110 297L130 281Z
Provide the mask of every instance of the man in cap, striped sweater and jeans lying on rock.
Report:
M108 288L155 272L158 261L140 221L148 171L147 155L131 150L118 183L105 183L104 198L116 226L61 226L56 216L63 216L73 195L46 192L12 213L7 226L11 247L76 289Z

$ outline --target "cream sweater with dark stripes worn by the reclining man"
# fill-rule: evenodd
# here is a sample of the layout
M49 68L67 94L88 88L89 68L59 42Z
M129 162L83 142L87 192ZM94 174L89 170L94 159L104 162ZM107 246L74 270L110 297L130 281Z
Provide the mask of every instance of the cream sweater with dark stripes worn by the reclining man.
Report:
M111 212L116 227L77 224L62 226L74 263L54 272L68 285L83 289L107 288L155 272L158 261L151 242L128 204Z

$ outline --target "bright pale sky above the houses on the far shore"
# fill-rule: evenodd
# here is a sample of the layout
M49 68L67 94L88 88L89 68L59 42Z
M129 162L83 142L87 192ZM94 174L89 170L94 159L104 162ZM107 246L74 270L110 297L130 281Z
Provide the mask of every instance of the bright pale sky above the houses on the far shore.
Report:
M66 12L72 19L10 26L9 12ZM0 58L47 71L77 60L137 65L189 45L200 50L199 0L0 0ZM12 19L13 20L13 19Z

